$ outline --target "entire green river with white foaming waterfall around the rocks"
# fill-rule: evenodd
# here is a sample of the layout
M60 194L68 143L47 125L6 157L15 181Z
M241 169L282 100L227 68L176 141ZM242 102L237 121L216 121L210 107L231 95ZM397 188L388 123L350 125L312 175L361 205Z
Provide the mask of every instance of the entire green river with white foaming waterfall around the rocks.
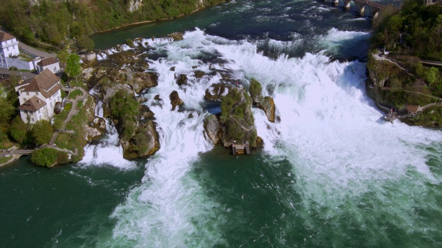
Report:
M177 31L182 41L150 43L160 151L124 160L109 124L80 163L2 167L0 247L441 247L442 133L385 122L367 97L368 19L320 1L236 0L93 39L104 50ZM257 79L276 103L276 123L253 109L265 147L250 156L204 138L217 111L204 92L221 71ZM173 90L186 111L153 104Z

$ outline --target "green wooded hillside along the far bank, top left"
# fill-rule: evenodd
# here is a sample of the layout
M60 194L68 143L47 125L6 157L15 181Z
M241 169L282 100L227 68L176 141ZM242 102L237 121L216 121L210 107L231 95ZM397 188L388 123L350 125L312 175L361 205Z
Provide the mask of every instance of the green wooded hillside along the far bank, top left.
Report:
M140 21L158 21L213 6L224 0L50 1L4 0L0 24L19 39L62 47L75 41L79 48L93 47L89 34ZM92 42L92 43L91 43Z

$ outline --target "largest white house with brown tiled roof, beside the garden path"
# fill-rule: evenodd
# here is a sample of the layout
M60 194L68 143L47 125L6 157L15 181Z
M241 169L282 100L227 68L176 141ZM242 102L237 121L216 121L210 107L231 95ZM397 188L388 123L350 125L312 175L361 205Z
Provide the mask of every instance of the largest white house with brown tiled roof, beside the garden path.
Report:
M17 85L20 116L24 123L50 120L55 103L61 102L60 79L46 69L28 82Z

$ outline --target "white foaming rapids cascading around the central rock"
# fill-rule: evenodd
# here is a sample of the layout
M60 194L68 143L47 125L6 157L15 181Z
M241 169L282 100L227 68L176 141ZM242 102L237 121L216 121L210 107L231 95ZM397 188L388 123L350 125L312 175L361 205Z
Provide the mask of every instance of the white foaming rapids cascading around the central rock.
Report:
M349 35L354 40L367 34L331 30L325 42L333 49ZM273 60L256 52L256 44L211 37L201 30L188 32L184 38L154 44L167 54L166 59L150 61L159 79L158 86L146 94L146 104L155 113L161 149L148 159L142 184L113 212L117 223L113 238L102 245L211 247L225 242L217 228L225 224L228 209L206 196L189 173L198 153L212 147L204 138L202 122L207 113L200 103L206 88L221 77L196 79L193 70L222 70L243 81L255 78L262 83L263 94L273 96L280 121L269 123L262 111L253 110L258 136L271 158L287 158L293 165L297 178L293 187L302 195L305 209L327 207L327 218L337 215L334 207L343 201L352 202L373 188L383 192L388 183L408 180L410 172L440 182L425 164L428 152L421 146L440 141L441 133L382 121L383 114L365 94L364 63L330 62L322 53L292 59L282 55ZM216 54L224 62L204 63L201 58L207 54ZM178 74L188 75L189 85L179 87L175 83ZM173 90L184 101L183 112L171 111ZM153 99L156 94L162 101ZM420 189L411 190L419 193ZM291 199L287 205L293 205ZM403 216L408 210L397 212ZM304 218L309 225L309 214Z

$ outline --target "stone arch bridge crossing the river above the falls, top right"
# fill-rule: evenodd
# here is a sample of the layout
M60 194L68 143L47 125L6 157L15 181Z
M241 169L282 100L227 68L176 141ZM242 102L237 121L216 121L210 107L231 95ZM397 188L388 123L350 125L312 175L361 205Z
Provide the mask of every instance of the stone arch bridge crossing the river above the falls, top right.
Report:
M356 6L356 12L361 15L366 15L370 18L376 19L378 17L378 13L381 10L387 8L379 3L375 3L374 1L369 0L323 0L324 2L332 2L334 6L343 6L346 10L349 10L352 6L352 2ZM343 4L343 5L341 5Z

